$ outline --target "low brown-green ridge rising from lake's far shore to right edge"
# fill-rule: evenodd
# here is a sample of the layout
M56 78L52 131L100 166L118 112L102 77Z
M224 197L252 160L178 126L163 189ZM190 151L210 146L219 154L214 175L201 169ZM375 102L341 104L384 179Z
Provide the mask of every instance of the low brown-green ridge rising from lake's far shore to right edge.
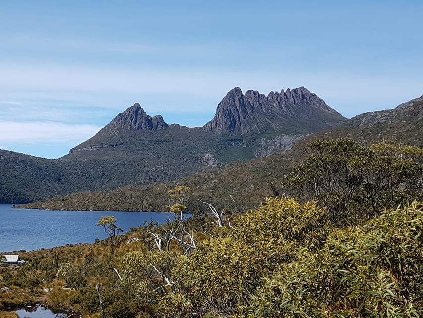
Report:
M383 117L380 116L381 113ZM218 210L253 209L259 206L265 197L277 196L281 193L281 180L291 167L302 162L307 154L305 146L309 142L315 139L347 137L369 145L388 139L423 148L422 114L423 95L402 103L394 109L363 113L355 117L354 120L357 120L355 122L348 121L342 127L307 136L295 142L292 150L274 152L263 158L201 171L178 182L126 186L108 192L71 194L29 204L25 208L154 211L167 202L168 190L182 184L191 187L194 191L192 197L187 200L187 205L192 210L206 208L199 203L198 199L211 202ZM395 120L397 126L389 129L390 126L385 124L392 120ZM415 120L418 120L420 125L415 125ZM395 128L398 131L395 131ZM235 198L235 202L232 198Z

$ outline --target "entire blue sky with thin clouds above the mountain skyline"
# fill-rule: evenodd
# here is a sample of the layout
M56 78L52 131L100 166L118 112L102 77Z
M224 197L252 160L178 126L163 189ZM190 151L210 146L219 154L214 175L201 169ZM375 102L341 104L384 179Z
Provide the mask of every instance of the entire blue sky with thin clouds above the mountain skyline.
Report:
M201 126L305 86L346 117L423 94L422 1L3 1L0 148L57 158L139 102Z

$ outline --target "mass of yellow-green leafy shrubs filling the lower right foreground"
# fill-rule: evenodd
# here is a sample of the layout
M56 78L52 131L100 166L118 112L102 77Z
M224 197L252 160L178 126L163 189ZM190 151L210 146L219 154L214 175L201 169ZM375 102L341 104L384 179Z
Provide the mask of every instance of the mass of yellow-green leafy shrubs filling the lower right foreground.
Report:
M174 271L166 317L419 317L423 205L331 229L313 204L268 200ZM169 307L168 304L173 304Z

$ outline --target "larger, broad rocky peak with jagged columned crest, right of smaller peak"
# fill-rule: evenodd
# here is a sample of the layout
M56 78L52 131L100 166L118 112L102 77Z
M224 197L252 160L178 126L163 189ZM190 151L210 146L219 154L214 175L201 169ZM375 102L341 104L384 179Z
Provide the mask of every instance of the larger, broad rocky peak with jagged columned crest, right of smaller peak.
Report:
M204 125L218 135L248 136L265 132L315 132L347 121L323 99L304 87L270 92L255 90L245 95L239 87L228 92L214 118Z

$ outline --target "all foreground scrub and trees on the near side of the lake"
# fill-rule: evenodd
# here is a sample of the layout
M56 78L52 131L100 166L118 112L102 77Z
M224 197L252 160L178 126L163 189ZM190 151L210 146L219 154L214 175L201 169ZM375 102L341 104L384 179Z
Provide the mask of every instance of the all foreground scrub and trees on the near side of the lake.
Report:
M308 151L281 180L295 199L184 219L195 189L177 187L167 224L22 254L0 284L16 304L52 288L47 302L84 317L420 317L422 149L340 139Z

